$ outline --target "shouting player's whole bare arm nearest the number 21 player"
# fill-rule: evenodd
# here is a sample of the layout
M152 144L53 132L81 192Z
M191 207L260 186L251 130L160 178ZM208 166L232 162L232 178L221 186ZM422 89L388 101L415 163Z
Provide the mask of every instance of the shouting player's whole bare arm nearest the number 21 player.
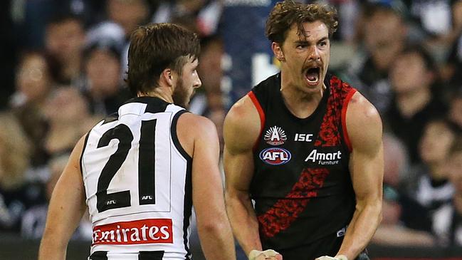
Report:
M224 171L226 210L233 233L246 255L261 250L258 221L248 189L253 177L252 148L260 133L260 119L250 98L238 101L224 123Z

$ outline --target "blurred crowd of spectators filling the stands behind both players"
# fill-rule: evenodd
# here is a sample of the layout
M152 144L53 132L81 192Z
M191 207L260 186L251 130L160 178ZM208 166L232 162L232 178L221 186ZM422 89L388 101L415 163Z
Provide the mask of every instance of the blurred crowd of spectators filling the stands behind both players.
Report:
M168 21L201 36L202 88L189 109L221 132L230 105L277 71L270 59L232 73L240 67L232 46L256 54L252 62L260 61L258 51L248 54L253 47L270 50L263 29L243 35L264 28L275 2L1 1L0 234L41 237L73 145L131 97L124 77L136 26ZM384 122L384 218L374 243L462 246L462 1L324 2L340 19L330 72L363 93ZM236 79L242 73L246 85ZM87 219L75 239L91 239Z

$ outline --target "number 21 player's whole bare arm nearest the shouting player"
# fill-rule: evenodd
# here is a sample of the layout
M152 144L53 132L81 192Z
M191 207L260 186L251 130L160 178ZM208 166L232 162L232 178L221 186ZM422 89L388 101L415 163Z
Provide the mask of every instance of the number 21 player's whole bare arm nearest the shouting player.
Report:
M219 171L219 139L209 119L184 113L178 120L179 141L192 161L192 199L206 259L236 259L234 239L224 205Z

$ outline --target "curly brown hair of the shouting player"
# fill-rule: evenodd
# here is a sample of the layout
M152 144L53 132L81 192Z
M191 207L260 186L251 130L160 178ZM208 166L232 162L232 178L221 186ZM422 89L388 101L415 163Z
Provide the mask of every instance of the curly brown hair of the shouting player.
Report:
M329 29L329 37L331 37L337 31L337 10L323 4L281 1L274 6L266 20L266 37L270 41L283 43L290 26L297 24L298 35L304 35L303 23L314 21L322 21Z

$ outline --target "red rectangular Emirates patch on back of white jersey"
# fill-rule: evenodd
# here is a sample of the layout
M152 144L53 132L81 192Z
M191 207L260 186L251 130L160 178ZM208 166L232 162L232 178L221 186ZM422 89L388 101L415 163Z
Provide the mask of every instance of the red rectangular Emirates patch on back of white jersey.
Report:
M173 243L172 219L141 219L93 227L95 244Z

